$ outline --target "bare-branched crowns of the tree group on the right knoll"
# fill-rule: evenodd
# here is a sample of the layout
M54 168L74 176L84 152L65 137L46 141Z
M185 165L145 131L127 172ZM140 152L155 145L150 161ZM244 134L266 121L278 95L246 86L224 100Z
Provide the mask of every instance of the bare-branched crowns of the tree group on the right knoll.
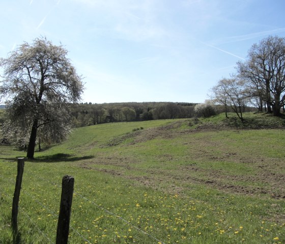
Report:
M214 100L232 109L242 119L246 103L260 111L265 104L267 112L281 115L285 105L285 38L272 37L255 43L248 51L247 60L237 62L237 74L222 78L211 89Z

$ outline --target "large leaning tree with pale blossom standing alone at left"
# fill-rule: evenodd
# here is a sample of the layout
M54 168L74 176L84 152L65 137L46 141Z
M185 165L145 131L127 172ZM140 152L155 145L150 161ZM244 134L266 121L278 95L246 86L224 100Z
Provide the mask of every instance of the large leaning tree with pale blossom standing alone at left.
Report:
M20 137L29 135L28 158L34 158L37 132L54 141L68 132L70 103L79 101L83 92L67 52L42 37L24 42L0 60L0 95L6 99L9 129L19 131Z

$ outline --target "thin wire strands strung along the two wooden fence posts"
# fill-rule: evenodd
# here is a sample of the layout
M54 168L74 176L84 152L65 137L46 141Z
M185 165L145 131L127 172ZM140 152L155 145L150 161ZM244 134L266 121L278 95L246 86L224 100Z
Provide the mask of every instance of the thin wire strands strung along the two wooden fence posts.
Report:
M29 171L29 170L26 170L26 169L25 169L25 173L30 174L30 175L34 175L34 176L37 177L38 179L41 179L41 180L43 180L43 181L45 181L45 182L48 182L49 184L52 184L52 185L54 185L54 186L56 186L56 187L59 187L59 188L62 187L61 185L56 184L56 183L53 182L53 181L50 181L50 180L48 180L48 179L45 179L45 178L43 178L43 177L40 177L40 176L35 175L34 172L31 172L31 171ZM1 175L0 175L0 177L1 177ZM5 180L8 180L9 182L11 182L11 183L13 183L13 184L15 183L15 181L14 181L13 179L10 179L10 178L5 178ZM38 185L38 184L37 184L37 185ZM38 185L38 186L39 186L39 185ZM2 193L2 194L3 194L3 193ZM33 201L37 202L37 204L39 204L41 207L43 207L44 209L46 209L50 214L52 214L52 215L55 216L56 218L58 217L58 213L55 213L55 212L54 212L53 210L51 210L48 206L46 206L44 203L42 203L41 201L39 201L38 199L36 199L33 195L31 195L28 191L26 191L26 189L22 189L22 194L25 195L25 196L28 196L28 197L32 198ZM106 213L108 213L108 214L114 216L115 218L117 218L118 220L120 220L121 222L123 222L124 224L126 224L126 225L128 225L128 226L130 226L130 227L132 227L132 228L134 228L134 229L136 229L138 232L143 233L144 235L148 236L149 238L155 240L156 242L161 243L161 244L166 244L166 243L163 242L162 240L156 238L155 236L153 236L153 235L149 234L148 232L146 232L146 231L140 229L139 227L137 227L136 225L132 224L131 222L125 220L124 218L122 218L122 216L119 216L118 214L113 213L113 212L107 210L107 209L104 208L101 204L95 203L94 201L88 199L86 196L83 196L82 194L80 194L80 193L78 193L78 192L76 192L76 191L73 191L73 194L74 194L74 196L79 196L81 199L83 199L83 200L85 200L85 201L87 201L87 202L89 202L89 203L92 203L92 204L93 204L95 207L97 207L98 209L100 209L100 210L102 210L102 211L104 211L104 212L106 212ZM5 194L3 194L3 195L5 195ZM5 196L8 197L8 198L10 198L10 197L7 196L7 195L5 195ZM40 228L37 226L37 224L31 219L31 216L30 216L29 214L27 214L27 213L26 213L22 208L20 208L20 207L19 207L19 210L26 216L27 220L29 220L29 221L33 224L33 226L38 230L38 232L39 232L42 236L44 236L44 237L46 238L46 240L49 241L49 243L54 243L54 242L51 241L51 239L50 239L43 231L40 230ZM90 243L90 244L92 243L92 242L90 242L90 241L88 240L88 238L87 238L86 236L84 236L84 235L82 235L81 233L79 233L72 225L70 225L70 229L71 229L74 233L76 233L79 237L81 237L81 238L85 241L85 243L86 243L86 242L87 242L87 243Z

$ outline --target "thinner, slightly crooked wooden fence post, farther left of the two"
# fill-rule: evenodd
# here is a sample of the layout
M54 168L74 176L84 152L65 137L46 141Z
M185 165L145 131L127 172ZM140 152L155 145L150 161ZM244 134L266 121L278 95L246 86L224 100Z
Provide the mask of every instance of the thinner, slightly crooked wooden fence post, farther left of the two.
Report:
M14 235L17 235L18 232L18 207L19 207L19 199L20 199L20 191L21 191L21 184L24 172L24 158L18 158L18 166L17 166L17 177L16 177L16 185L15 185L15 192L13 197L13 204L12 204L12 218L11 218L11 226Z

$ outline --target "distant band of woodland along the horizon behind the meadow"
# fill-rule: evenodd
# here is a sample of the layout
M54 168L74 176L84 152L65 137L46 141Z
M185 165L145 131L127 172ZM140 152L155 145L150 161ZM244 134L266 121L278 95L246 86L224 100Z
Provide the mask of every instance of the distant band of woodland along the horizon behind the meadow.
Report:
M157 119L184 119L195 117L194 107L198 103L187 102L122 102L79 103L72 109L74 127L109 123ZM223 106L215 106L216 113L224 112ZM249 112L256 109L245 107ZM230 109L229 109L230 111Z

